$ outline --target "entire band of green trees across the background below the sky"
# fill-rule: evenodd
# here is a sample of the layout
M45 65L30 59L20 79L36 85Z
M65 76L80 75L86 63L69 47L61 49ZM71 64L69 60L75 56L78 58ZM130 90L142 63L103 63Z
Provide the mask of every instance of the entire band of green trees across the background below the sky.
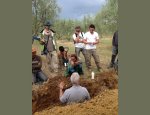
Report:
M71 40L75 26L80 25L83 32L88 31L90 24L95 24L96 31L101 35L112 35L117 30L118 0L106 0L106 4L95 16L84 16L81 20L57 18L60 8L56 0L32 0L32 33L37 34L46 20L53 22L57 39Z

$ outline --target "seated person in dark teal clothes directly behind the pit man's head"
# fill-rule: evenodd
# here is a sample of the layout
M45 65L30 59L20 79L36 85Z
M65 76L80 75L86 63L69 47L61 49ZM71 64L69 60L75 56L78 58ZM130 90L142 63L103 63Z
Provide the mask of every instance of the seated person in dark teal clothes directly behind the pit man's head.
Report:
M79 75L83 75L82 63L78 61L78 57L75 54L71 54L65 71L65 76L70 77L74 72L78 72Z

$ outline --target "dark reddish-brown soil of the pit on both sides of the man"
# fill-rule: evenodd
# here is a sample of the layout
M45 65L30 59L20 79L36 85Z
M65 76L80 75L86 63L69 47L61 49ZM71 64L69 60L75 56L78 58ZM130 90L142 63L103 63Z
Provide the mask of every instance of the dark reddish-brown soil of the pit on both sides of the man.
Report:
M62 76L56 76L50 78L45 84L41 85L37 90L32 91L32 111L37 112L47 107L54 107L61 105L59 101L59 88L60 81L64 81L66 84L65 89L71 87L69 78ZM115 89L118 87L118 80L115 77L113 71L103 72L96 75L95 80L81 79L81 86L87 88L90 96L93 98L105 89ZM64 89L64 90L65 90Z

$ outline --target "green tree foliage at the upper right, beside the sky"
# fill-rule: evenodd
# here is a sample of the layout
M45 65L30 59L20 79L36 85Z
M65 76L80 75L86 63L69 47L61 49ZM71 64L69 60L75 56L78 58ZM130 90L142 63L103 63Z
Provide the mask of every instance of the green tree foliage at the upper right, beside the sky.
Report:
M101 33L114 33L118 26L118 0L107 0L106 5L96 15L95 22Z

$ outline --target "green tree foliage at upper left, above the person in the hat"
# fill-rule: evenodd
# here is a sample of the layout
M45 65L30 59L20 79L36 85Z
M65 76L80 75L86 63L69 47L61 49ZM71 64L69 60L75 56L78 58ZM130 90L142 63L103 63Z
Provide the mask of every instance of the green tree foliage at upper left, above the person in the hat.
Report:
M46 20L53 22L59 12L56 0L32 0L32 34L37 35Z

